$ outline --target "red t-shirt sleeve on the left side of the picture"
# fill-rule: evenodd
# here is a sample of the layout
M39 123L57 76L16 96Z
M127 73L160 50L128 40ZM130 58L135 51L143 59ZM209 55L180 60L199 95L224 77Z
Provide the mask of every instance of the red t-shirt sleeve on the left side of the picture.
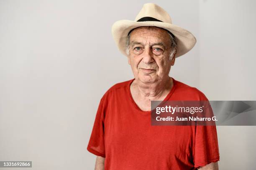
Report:
M91 137L87 146L87 150L94 155L105 157L105 134L104 134L104 99L100 100L100 104L96 113L95 122L92 128Z

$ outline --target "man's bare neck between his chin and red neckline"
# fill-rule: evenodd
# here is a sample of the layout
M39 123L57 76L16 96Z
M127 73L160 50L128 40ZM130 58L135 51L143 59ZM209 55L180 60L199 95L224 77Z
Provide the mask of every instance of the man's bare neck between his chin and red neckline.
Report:
M172 89L173 85L172 78L169 76L154 83L143 83L136 79L133 82L134 83L132 85L134 89L136 89L137 95L149 100L163 100Z

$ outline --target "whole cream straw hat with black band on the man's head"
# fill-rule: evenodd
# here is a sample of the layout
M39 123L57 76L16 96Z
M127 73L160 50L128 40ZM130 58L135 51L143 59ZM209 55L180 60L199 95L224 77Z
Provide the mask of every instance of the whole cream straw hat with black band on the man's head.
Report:
M146 3L135 20L118 20L112 25L112 35L121 53L127 56L126 46L128 33L141 26L155 26L169 30L177 38L175 58L191 50L196 43L195 36L188 30L172 24L169 14L154 3Z

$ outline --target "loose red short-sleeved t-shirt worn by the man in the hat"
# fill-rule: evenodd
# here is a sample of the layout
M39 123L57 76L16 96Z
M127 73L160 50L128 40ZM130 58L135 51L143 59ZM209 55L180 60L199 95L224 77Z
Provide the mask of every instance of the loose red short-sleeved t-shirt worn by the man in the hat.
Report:
M115 84L100 100L87 150L105 157L105 170L192 170L220 159L215 126L151 126L151 112L131 96L133 80ZM207 100L173 82L164 100Z

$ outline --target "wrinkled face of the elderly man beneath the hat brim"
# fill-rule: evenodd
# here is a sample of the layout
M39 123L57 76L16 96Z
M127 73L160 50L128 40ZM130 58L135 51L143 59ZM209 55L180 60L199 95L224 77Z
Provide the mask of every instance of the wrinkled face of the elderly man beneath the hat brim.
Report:
M128 63L136 80L154 83L166 79L175 57L169 59L171 44L166 30L139 27L131 32Z

